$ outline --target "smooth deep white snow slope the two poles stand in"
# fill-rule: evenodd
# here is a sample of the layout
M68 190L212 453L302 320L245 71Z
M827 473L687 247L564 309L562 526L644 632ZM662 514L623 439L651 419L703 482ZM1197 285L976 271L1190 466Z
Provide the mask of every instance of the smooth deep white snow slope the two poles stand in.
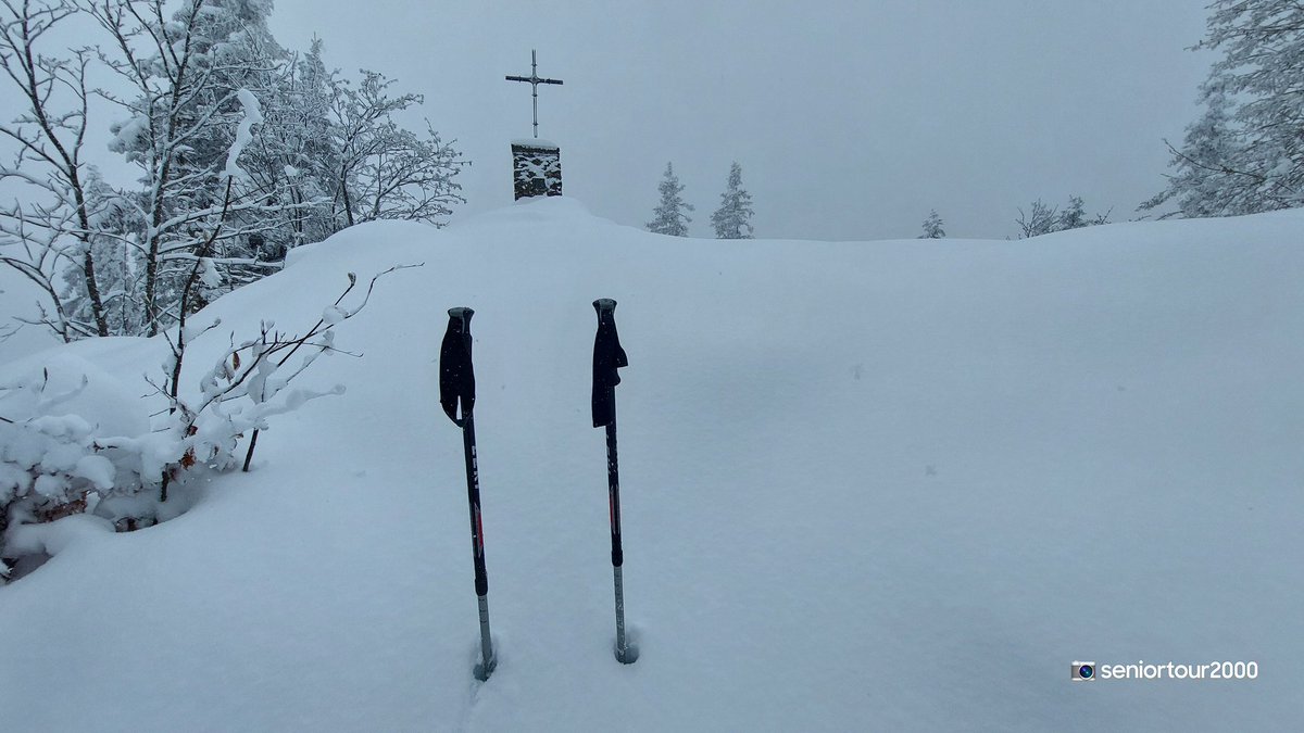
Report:
M301 378L347 394L273 419L254 471L177 519L56 524L55 558L0 588L0 726L1299 730L1301 240L1304 211L687 240L565 198L352 228L211 305L223 327L188 356L197 374L232 329L309 325L347 271L425 262L338 326L361 359ZM596 297L619 301L630 357L630 666L589 423ZM455 305L476 309L482 685L437 394ZM136 394L163 355L64 351ZM1074 660L1260 672L1074 683Z

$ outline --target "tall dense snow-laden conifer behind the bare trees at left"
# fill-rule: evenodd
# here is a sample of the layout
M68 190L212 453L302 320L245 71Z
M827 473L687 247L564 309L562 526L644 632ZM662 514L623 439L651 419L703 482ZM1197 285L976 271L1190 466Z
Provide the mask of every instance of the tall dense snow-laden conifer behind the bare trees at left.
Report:
M241 133L262 121L257 97L231 80L250 73L241 51L254 34L246 18L263 3L185 0L171 16L164 0L96 0L87 9L108 33L100 52L126 94L104 94L126 119L113 125L110 149L138 166L145 228L133 244L143 261L142 308L146 335L179 318L180 290L196 250L219 232L215 253L267 228L289 197L258 185L240 167ZM243 124L249 127L241 128ZM230 185L227 185L230 184ZM230 197L230 198L228 198ZM230 226L223 226L230 224ZM219 257L223 266L246 262Z

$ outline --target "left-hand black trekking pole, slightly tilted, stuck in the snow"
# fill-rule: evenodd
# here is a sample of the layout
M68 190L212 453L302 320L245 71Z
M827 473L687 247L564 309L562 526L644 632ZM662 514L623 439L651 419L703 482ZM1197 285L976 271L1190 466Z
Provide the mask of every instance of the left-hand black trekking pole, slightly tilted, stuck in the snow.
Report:
M480 656L476 680L484 682L493 673L497 660L489 636L489 576L485 573L484 524L480 520L480 468L476 464L476 374L471 365L469 308L449 309L449 330L439 346L439 404L454 425L462 428L462 446L467 459L467 501L471 505L471 557L476 566L476 599L480 604ZM462 419L458 419L458 402Z

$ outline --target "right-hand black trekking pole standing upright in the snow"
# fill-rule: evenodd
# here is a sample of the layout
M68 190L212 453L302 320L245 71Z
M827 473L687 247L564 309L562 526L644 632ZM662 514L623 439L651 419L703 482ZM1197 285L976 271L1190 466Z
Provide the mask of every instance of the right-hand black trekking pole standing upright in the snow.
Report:
M639 648L625 639L625 552L621 548L621 477L615 456L615 385L621 376L615 372L629 366L629 357L621 348L615 333L615 301L602 297L593 301L597 310L597 335L593 339L593 426L606 426L606 492L612 520L612 576L615 582L615 659L621 664L634 664Z

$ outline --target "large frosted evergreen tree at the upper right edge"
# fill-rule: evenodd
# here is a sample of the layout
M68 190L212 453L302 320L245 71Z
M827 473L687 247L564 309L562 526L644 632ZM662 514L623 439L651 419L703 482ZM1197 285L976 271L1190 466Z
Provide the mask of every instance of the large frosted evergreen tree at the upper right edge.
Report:
M1168 145L1168 187L1142 203L1175 201L1185 217L1247 214L1304 203L1304 5L1215 0L1205 38L1222 51L1200 95L1205 111L1180 149ZM1171 215L1171 214L1170 214Z

